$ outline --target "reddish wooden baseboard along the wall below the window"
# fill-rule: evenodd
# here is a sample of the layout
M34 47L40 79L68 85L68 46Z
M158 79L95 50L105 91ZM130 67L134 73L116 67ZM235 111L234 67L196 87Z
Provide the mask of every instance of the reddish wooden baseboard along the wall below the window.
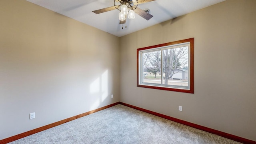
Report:
M214 130L212 128L207 128L205 126L200 126L198 124L193 124L191 122L187 122L187 121L184 121L184 120L180 120L180 119L177 119L177 118L173 118L173 117L170 117L170 116L166 116L164 114L159 114L157 112L153 112L153 111L150 111L150 110L146 110L146 109L143 109L143 108L139 108L137 106L132 106L130 104L126 104L126 103L123 103L123 102L120 102L120 104L124 105L124 106L128 106L130 108L134 108L136 110L140 110L142 112L146 112L146 113L149 113L149 114L153 114L155 116L159 116L161 118L165 118L167 120L172 120L174 122L178 122L180 124L184 124L186 126L190 126L190 127L193 127L193 128L196 128L196 129L199 129L199 130L203 130L205 132L209 132L209 133L212 133L212 134L216 134L218 136L222 136L224 138L228 138L230 140L234 140L234 141L237 141L237 142L241 142L241 143L244 143L244 144L256 144L255 141L253 140L248 140L246 138L241 138L239 136L235 136L235 135L232 135L232 134L228 134L226 132L221 132L221 131L218 131L218 130Z

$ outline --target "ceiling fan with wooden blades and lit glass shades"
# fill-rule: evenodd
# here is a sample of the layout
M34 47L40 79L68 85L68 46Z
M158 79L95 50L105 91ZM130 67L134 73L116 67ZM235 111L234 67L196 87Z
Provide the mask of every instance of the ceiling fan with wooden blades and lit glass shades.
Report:
M146 2L151 2L154 0L114 0L114 6L110 6L108 8L102 8L100 10L94 10L95 14L100 14L102 12L108 12L110 10L119 10L119 24L125 24L126 22L126 15L128 14L129 19L134 19L135 14L138 14L142 18L146 20L150 20L153 16L149 14L149 10L142 10L138 8L138 4L143 4ZM128 12L129 11L129 12Z

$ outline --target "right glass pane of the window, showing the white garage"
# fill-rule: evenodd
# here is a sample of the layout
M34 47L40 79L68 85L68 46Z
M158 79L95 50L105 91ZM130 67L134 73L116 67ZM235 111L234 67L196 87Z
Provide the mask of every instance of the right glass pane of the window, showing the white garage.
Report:
M162 50L164 85L188 86L188 46Z

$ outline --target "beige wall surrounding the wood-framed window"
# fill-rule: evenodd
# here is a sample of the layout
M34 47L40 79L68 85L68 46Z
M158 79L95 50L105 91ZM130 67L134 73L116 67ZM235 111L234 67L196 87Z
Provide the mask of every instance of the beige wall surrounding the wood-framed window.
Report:
M256 0L226 0L121 37L121 102L256 141L255 14ZM186 38L194 94L136 87L137 48Z

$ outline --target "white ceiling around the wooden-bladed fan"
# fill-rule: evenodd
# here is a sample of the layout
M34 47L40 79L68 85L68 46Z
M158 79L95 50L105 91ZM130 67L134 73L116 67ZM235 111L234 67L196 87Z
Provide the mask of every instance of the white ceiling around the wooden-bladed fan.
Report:
M126 20L126 26L122 29L119 24L119 10L112 10L101 14L95 14L93 10L98 10L114 6L114 0L27 0L54 12L63 14L83 22L118 37L142 30L149 26L188 14L195 10L223 2L224 0L155 0L152 2L139 4L138 8L150 9L153 17L145 20L135 14L135 19Z

